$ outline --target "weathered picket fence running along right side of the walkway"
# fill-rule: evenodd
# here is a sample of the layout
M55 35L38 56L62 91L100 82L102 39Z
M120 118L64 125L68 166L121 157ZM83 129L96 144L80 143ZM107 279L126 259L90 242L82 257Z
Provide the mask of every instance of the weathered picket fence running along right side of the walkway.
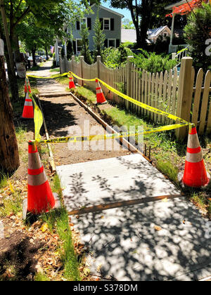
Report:
M132 57L128 58L125 67L115 70L107 68L101 63L101 57L93 65L87 65L83 57L76 63L74 56L71 61L60 60L60 71L72 71L84 79L99 78L112 86L114 89L139 100L152 107L177 115L188 122L198 126L199 134L211 133L211 72L205 75L201 69L195 79L195 70L192 67L192 58L181 59L181 70L177 67L169 72L150 73L142 71L132 63ZM196 80L196 81L195 81ZM75 79L80 85L87 85L95 91L95 82ZM102 86L107 100L141 117L148 117L155 124L172 124L170 119L159 114L149 112L143 108L129 103ZM184 138L187 129L177 130L177 137Z

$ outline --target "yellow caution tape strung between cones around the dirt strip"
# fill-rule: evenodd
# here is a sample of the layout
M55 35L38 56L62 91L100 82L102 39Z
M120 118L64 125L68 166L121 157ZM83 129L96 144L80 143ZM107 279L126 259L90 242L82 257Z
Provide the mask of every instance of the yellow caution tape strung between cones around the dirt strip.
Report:
M181 128L184 126L190 126L190 125L193 126L194 125L194 124L186 122L184 119L174 116L174 114L169 114L165 111L158 110L155 107L151 107L150 105L146 105L145 103L141 103L140 101L134 100L134 98L131 98L131 97L121 93L120 91L117 91L116 89L114 89L110 85L106 84L106 82L104 82L98 78L82 79L81 77L78 77L73 72L68 72L68 73L60 74L60 75L57 75L54 77L49 77L49 78L48 77L37 77L37 76L32 76L32 75L27 75L27 77L33 77L33 78L37 78L37 79L54 79L56 77L65 77L67 75L68 75L68 78L73 76L73 77L75 77L77 79L81 79L83 81L96 81L96 79L97 79L99 82L101 82L101 84L103 84L103 86L105 86L107 89L109 89L113 93L117 94L117 96L124 98L124 100L128 100L129 102L134 103L134 105L138 105L139 107L142 107L145 110L149 110L150 112L154 112L155 114L160 114L160 115L165 116L169 119L173 119L174 121L180 121L181 123L167 125L167 126L160 126L158 128L153 128L153 129L146 129L146 131L143 131L141 133L134 133L134 134L116 133L116 134L103 134L103 135L96 135L96 136L70 136L70 137L52 138L49 140L41 140L41 136L39 133L40 133L41 126L43 124L43 116L42 116L41 110L37 106L37 103L35 102L34 98L32 97L32 94L29 93L30 98L32 98L33 103L34 103L34 129L35 129L34 137L35 137L35 140L38 141L39 143L66 143L69 141L76 142L76 141L87 141L87 140L90 141L90 140L102 140L102 139L111 139L111 138L122 138L122 137L126 137L126 136L136 136L136 135L149 134L149 133L155 133L155 132L161 132L161 131L170 131L170 130L178 129L178 128ZM28 83L28 81L27 81L27 83ZM27 89L28 89L28 87L27 87Z

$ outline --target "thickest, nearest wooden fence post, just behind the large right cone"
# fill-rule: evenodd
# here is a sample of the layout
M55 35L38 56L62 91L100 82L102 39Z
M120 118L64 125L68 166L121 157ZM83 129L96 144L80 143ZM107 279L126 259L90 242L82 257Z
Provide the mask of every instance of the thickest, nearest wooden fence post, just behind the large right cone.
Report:
M177 101L177 117L190 122L191 105L193 98L193 58L186 57L181 59L181 69L179 72L179 89ZM182 127L176 130L176 136L183 140L187 135L188 128Z

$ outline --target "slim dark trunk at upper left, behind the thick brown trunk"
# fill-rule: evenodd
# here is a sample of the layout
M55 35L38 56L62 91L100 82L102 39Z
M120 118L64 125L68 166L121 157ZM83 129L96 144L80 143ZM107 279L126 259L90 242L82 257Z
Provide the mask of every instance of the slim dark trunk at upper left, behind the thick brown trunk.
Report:
M10 67L11 67L11 75L12 75L12 79L13 79L13 85L11 85L11 93L13 96L13 100L18 100L19 99L18 84L17 84L16 74L15 74L15 70L14 70L14 61L13 61L13 51L12 51L12 47L11 47L11 40L10 40L10 37L8 34L8 26L7 26L7 22L6 22L4 0L0 0L0 6L1 6L1 18L2 18L3 25L4 25L4 34L5 34L5 38L6 38L6 46L7 46L7 50L8 50L9 62L10 62Z

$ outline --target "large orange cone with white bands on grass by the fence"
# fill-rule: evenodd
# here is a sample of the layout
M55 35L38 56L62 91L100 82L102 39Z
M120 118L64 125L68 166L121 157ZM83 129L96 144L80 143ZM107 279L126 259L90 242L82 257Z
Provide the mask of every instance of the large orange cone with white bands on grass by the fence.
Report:
M181 182L191 188L202 188L210 182L210 175L205 169L196 127L193 126L191 126L188 135L186 164Z

